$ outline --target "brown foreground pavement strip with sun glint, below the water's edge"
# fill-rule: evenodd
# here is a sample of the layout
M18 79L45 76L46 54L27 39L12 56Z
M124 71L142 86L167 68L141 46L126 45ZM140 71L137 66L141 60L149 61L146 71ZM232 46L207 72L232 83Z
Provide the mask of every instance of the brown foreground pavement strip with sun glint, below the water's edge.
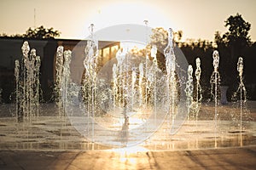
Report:
M0 151L0 169L255 169L256 146L214 150ZM130 151L129 151L130 150ZM136 149L135 149L136 150ZM140 150L140 149L138 149Z

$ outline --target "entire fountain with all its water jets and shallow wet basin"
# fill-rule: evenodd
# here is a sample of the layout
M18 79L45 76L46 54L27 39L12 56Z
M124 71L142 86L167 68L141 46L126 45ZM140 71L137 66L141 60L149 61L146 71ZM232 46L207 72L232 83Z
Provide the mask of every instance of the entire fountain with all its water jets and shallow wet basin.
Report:
M148 22L145 24L147 30ZM39 111L46 112L39 107L41 62L35 49L30 50L28 42L24 42L23 60L15 61L14 120L17 127L22 124L29 128L24 128L26 131L20 128L13 135L10 119L3 118L0 147L102 150L140 144L150 150L190 150L255 144L251 140L254 122L250 124L243 117L247 100L242 58L237 63L240 82L234 97L240 97L240 134L246 133L247 138L236 144L237 126L233 127L234 123L226 117L230 113L238 114L238 110L230 105L218 105L218 51L212 54L213 102L205 103L201 93L201 60L195 60L194 74L192 65L182 65L172 29L168 30L168 43L162 52L163 63L158 58L160 49L147 40L143 43L147 48L143 56L132 54L131 48L124 45L105 65L100 65L93 25L89 31L83 62L79 62L81 69L74 70L77 65L73 62L78 58L73 54L79 54L76 48L69 51L59 46L56 50L56 107L50 108L52 116L39 114ZM73 75L82 76L75 82ZM33 122L35 117L37 123ZM28 123L20 123L22 119ZM11 130L5 130L8 128Z

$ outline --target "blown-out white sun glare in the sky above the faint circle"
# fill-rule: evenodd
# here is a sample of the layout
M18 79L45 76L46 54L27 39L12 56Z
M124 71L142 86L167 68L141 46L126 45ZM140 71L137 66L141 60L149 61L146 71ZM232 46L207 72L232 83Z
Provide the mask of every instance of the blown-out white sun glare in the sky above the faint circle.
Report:
M120 24L144 25L143 21L148 20L150 27L172 27L170 20L159 8L152 7L147 3L109 3L108 5L96 8L85 22L85 26L95 25L95 31L108 26ZM89 33L88 33L89 35ZM87 35L86 35L87 36Z

